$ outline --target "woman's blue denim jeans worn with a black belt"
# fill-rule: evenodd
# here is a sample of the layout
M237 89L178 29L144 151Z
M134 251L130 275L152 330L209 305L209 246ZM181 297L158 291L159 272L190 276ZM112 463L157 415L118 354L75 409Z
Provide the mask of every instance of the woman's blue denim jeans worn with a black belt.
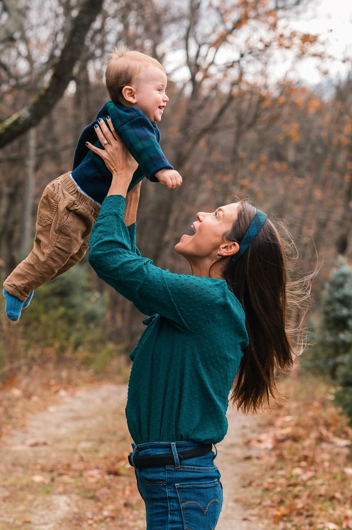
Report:
M176 451L198 447L193 441L135 445L132 457L173 452L173 465L134 467L138 491L146 505L147 530L213 530L222 508L220 472L213 460L218 451L187 458L179 464Z

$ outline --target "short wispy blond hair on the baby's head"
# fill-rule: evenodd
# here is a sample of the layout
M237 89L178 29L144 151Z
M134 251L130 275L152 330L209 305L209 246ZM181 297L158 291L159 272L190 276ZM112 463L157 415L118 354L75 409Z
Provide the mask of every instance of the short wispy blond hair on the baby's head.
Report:
M105 71L106 89L114 103L122 102L122 89L130 85L142 68L157 66L165 72L163 66L149 55L130 50L125 44L115 46L109 53Z

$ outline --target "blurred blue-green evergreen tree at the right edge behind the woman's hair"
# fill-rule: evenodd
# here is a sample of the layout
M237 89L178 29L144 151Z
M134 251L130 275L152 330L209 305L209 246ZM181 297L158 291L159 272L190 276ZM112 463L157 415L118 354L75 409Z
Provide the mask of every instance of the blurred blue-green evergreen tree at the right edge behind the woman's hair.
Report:
M324 286L321 314L303 366L318 370L337 385L335 401L352 423L352 268L342 257Z

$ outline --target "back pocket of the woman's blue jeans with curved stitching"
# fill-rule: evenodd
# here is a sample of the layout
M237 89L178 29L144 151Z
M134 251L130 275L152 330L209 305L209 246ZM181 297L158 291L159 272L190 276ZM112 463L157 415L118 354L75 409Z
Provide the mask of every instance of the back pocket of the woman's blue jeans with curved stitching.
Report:
M185 530L213 530L219 519L219 481L175 484Z

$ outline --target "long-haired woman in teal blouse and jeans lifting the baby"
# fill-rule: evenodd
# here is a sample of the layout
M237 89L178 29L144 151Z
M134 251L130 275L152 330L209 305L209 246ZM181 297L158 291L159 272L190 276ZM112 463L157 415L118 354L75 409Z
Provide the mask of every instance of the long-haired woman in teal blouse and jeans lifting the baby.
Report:
M136 247L139 186L127 196L137 164L108 123L112 133L104 120L97 129L104 149L87 144L113 175L88 261L149 315L130 354L129 462L148 530L212 530L223 497L211 449L227 431L229 392L238 408L258 410L275 394L276 369L292 366L302 346L299 326L287 329L284 243L265 214L239 201L198 212L194 235L175 246L191 275L154 266Z

